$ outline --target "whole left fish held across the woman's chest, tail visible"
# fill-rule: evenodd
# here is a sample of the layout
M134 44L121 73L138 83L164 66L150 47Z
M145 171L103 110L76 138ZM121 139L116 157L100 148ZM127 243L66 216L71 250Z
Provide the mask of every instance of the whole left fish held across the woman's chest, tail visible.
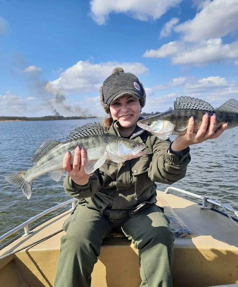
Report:
M70 163L73 165L74 152L77 146L85 148L87 163L84 167L87 174L100 168L106 160L123 163L132 158L145 155L147 146L124 137L104 133L100 123L86 124L78 127L61 141L43 141L33 154L30 169L9 174L5 180L13 185L19 185L23 194L30 199L33 180L42 174L50 172L50 178L59 181L65 172L63 158L70 151Z

